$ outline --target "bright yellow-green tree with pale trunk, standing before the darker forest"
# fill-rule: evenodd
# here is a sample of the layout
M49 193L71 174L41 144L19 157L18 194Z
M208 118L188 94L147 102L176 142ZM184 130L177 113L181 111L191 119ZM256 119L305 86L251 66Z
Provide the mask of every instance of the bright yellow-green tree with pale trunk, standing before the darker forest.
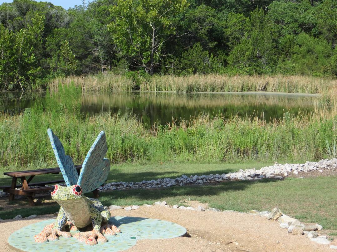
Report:
M152 75L164 43L176 35L173 18L187 6L186 0L119 0L110 10L116 21L108 30L121 53Z

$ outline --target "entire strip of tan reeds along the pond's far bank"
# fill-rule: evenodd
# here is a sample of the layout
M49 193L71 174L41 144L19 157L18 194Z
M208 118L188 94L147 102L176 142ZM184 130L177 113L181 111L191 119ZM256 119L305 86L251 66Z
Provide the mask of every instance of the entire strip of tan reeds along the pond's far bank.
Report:
M74 83L84 91L94 90L134 90L190 92L249 92L268 91L284 93L327 93L336 88L337 80L310 76L284 75L154 75L120 76L114 74L70 76L57 78L49 84L50 90L58 91L59 83Z

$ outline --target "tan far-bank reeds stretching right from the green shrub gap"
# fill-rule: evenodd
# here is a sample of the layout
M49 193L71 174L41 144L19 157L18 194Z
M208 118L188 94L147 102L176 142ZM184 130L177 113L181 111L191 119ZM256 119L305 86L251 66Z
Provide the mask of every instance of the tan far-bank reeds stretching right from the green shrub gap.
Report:
M249 92L323 93L336 80L309 76L254 75L229 76L219 74L190 76L154 76L141 90L173 92Z

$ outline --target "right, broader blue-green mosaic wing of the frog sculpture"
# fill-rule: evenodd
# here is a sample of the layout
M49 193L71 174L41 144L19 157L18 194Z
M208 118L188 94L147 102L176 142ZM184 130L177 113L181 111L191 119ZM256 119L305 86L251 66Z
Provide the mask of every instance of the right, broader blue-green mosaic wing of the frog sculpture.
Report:
M101 131L83 162L77 182L77 185L81 186L83 193L95 190L108 178L110 161L104 158L107 151L105 133Z

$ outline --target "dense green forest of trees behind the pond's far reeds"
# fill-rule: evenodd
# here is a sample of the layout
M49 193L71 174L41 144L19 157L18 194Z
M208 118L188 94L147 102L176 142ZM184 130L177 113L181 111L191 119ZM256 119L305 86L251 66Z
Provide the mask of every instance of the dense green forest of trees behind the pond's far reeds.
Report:
M337 75L334 0L96 0L0 5L0 89L56 77Z

